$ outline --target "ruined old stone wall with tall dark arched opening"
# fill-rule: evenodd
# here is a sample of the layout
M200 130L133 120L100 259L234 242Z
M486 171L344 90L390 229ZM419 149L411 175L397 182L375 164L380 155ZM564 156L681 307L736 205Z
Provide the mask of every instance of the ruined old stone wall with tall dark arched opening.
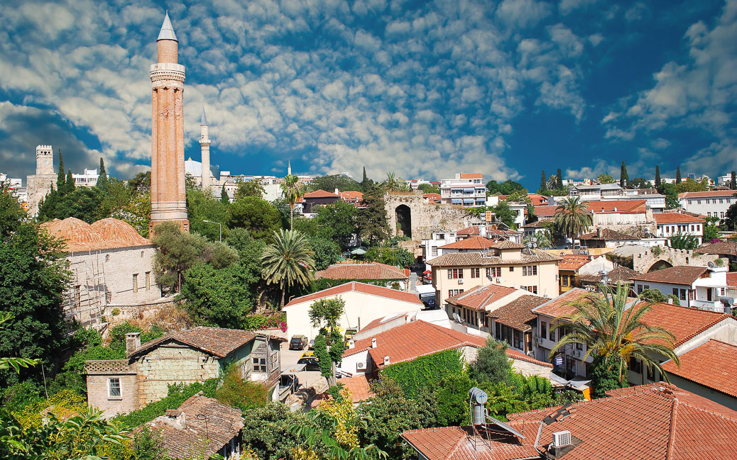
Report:
M430 238L430 233L437 228L460 230L472 223L481 222L480 219L467 215L462 206L428 205L422 198L422 193L395 192L384 196L389 229L394 236L398 234L397 208L401 205L409 208L411 222L408 227L411 229L411 235L408 236L413 241L419 242L422 238Z

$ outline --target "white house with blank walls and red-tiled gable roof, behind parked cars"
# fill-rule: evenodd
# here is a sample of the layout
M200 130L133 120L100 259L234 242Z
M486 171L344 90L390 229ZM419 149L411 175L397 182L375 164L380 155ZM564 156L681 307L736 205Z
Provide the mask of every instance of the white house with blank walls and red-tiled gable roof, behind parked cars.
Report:
M346 302L345 312L338 320L343 330L361 330L374 319L391 314L405 313L424 307L415 294L351 281L324 289L303 297L297 297L284 305L287 314L287 333L315 338L320 332L310 322L310 307L317 300L341 298Z

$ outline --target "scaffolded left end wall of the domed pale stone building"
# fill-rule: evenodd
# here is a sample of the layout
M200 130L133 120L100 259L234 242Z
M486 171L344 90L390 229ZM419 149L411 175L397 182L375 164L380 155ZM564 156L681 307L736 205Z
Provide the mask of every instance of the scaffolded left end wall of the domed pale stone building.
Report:
M100 250L71 252L69 271L71 286L64 293L64 314L85 328L100 330L104 321L106 293L105 263L100 261Z

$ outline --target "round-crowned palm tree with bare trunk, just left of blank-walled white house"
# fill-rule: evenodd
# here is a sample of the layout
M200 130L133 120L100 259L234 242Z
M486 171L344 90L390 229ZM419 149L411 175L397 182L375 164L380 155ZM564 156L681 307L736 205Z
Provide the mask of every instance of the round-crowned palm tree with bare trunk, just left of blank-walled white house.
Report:
M299 284L306 286L312 280L315 269L314 252L304 234L296 230L279 229L273 234L273 244L264 248L261 255L262 275L267 283L282 286L282 307L287 288Z

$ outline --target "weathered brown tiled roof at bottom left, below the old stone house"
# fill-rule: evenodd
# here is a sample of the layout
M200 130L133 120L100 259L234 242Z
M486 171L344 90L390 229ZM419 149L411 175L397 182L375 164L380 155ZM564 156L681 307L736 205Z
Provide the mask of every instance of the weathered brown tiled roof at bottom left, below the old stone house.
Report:
M178 425L184 415L184 426ZM204 416L203 420L198 416ZM195 394L177 409L167 410L146 425L162 435L162 444L172 459L209 459L243 428L242 412L218 403L211 397Z

